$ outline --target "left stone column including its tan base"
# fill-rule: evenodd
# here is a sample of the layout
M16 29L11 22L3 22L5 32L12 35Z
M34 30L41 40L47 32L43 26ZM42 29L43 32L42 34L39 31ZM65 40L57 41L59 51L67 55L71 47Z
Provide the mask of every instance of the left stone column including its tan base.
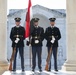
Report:
M0 75L7 70L7 0L0 0Z

